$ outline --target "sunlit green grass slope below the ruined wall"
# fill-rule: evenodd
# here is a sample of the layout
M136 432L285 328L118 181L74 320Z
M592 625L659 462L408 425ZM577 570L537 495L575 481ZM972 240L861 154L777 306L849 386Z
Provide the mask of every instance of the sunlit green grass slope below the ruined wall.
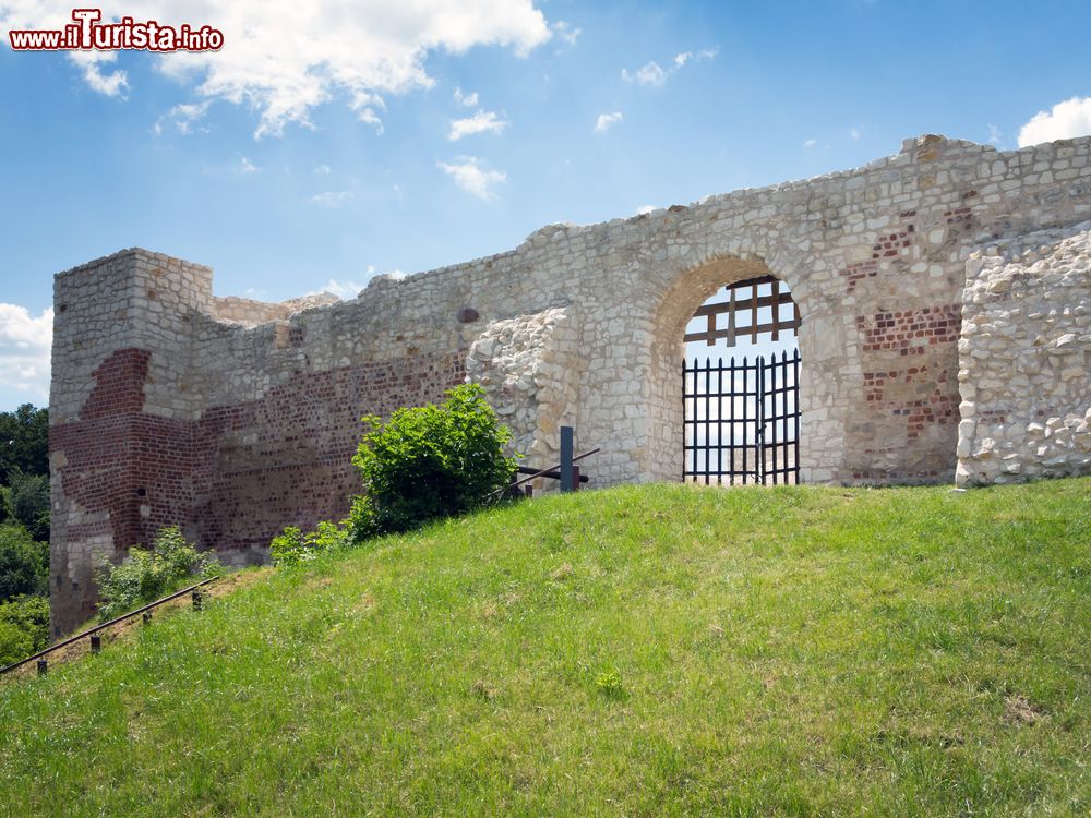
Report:
M1089 531L1087 479L536 500L0 684L0 807L1086 816Z

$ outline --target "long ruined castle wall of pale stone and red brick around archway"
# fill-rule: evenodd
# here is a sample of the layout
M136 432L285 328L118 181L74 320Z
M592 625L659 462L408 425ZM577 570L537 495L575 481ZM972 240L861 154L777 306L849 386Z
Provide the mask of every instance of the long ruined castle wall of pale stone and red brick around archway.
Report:
M281 526L341 514L360 416L464 378L484 385L531 464L553 461L572 424L580 447L602 447L596 484L679 479L685 325L757 276L783 280L802 316L803 481L951 480L980 370L959 359L968 261L973 278L982 248L1089 218L1091 140L1000 153L924 136L853 171L549 225L506 253L377 277L349 301L216 298L207 267L143 250L59 274L55 624L91 610L94 552L120 558L168 522L242 562ZM1078 370L1058 370L1058 406L1082 400L1070 397L1087 390L1086 360ZM1005 394L978 423L1026 411ZM1044 428L1068 429L1074 411Z

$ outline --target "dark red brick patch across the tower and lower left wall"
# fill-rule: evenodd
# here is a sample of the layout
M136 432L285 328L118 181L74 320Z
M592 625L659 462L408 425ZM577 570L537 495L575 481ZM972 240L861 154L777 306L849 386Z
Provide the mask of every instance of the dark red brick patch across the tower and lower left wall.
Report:
M338 519L359 490L350 459L360 418L442 399L465 377L465 352L299 371L260 400L182 421L145 412L151 360L143 349L113 352L95 370L80 420L50 431L51 453L67 461L65 500L81 510L68 543L105 534L121 550L179 525L202 548L247 552L285 526ZM60 590L63 573L53 573ZM89 582L89 572L81 576ZM93 613L80 581L55 594L77 609L56 622Z

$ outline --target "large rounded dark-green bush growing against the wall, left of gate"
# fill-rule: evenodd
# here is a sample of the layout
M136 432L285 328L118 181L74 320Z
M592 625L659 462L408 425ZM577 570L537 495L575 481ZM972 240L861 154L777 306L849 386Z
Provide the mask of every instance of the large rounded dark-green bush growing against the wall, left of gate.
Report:
M350 517L357 541L485 505L515 471L504 455L511 434L477 384L448 390L439 406L398 409L385 424L363 422L370 429L352 458L365 492Z

